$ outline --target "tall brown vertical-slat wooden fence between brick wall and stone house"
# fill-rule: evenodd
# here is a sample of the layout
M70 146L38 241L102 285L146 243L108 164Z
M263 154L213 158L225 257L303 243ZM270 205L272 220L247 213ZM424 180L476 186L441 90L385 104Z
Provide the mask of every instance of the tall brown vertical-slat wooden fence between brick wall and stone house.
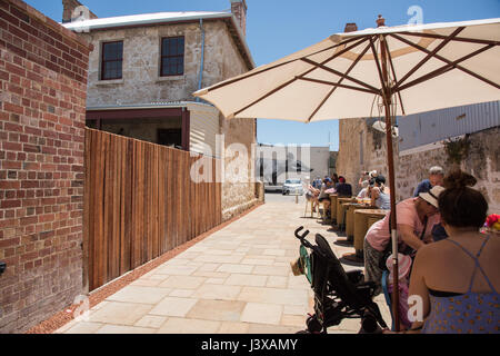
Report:
M212 182L194 182L190 170L199 158L86 129L83 274L89 291L221 224L217 159L201 158L212 167L206 171Z

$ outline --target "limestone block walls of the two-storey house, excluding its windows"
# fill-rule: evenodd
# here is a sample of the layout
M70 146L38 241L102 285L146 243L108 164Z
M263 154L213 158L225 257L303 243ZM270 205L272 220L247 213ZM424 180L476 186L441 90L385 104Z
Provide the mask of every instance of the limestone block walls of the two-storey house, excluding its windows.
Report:
M241 53L223 21L204 21L204 61L201 87L209 87L248 70ZM199 22L159 24L116 31L81 33L97 50L90 56L88 106L131 105L156 101L193 101L192 92L199 87L201 66L201 29ZM184 36L184 73L176 77L159 76L162 37ZM100 47L103 41L123 40L123 79L99 80ZM224 165L230 168L237 159L248 169L228 169L222 188L222 214L228 219L247 209L256 200L256 187L250 171L250 159L234 157L230 145L242 144L251 155L256 140L256 120L228 121L221 115L218 134L224 135ZM254 156L251 156L252 159ZM238 182L231 182L237 180Z

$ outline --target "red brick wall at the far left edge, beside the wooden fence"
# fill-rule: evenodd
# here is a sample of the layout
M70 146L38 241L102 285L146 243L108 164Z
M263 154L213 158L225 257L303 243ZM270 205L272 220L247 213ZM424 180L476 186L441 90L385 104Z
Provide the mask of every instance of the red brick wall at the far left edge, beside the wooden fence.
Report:
M90 50L24 2L0 0L0 333L81 294Z

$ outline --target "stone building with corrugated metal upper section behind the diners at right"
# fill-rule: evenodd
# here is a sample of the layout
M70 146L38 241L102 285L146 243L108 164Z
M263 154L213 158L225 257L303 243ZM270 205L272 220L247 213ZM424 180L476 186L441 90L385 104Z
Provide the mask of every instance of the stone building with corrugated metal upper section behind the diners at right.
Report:
M386 134L373 127L378 119L346 119L339 122L337 172L357 182L362 171L378 170L388 178ZM393 139L396 200L413 196L432 166L446 172L460 167L478 179L474 186L488 200L490 214L500 208L500 101L447 108L399 117ZM467 150L452 157L448 142ZM451 148L451 146L450 146ZM456 155L457 156L457 155ZM359 191L360 187L354 189Z

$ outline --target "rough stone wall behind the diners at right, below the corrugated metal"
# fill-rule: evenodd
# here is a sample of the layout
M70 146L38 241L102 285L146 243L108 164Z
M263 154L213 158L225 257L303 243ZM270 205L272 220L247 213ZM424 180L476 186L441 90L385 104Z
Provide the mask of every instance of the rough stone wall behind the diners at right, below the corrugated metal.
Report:
M339 122L337 172L347 177L353 188L356 186L353 189L356 192L360 190L357 185L363 170L376 169L388 178L386 135L374 130L371 127L372 122L373 120L369 119L349 119ZM460 165L462 170L478 179L474 188L487 198L490 212L497 214L500 211L499 134L499 127L471 134L469 154ZM440 142L400 154L397 140L393 139L397 201L413 196L417 185L428 178L430 167L441 166L446 172L453 168L448 161L444 146Z

